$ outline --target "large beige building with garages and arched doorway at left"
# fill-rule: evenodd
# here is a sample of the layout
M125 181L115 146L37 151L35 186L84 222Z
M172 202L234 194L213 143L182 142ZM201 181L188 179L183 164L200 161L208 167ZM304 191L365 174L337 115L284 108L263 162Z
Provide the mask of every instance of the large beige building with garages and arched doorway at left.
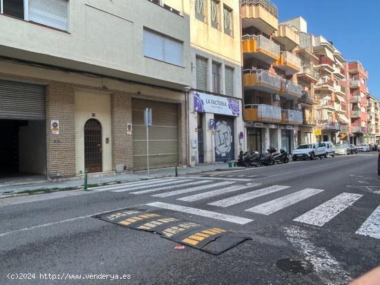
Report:
M0 2L2 171L144 169L146 108L151 167L187 164L187 1Z

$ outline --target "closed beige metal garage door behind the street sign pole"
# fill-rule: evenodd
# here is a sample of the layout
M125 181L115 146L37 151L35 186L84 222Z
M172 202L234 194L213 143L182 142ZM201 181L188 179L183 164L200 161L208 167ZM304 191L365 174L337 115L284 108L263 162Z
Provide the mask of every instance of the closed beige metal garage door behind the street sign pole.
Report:
M133 99L133 169L146 169L146 108L152 108L153 121L149 128L149 168L173 166L178 163L178 105Z

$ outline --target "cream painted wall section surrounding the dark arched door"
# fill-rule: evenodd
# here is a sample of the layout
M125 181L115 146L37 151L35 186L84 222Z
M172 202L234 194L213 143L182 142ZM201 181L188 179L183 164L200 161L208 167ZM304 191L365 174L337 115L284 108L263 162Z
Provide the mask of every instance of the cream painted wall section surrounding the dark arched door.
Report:
M92 114L95 113L95 117ZM75 165L84 173L84 124L97 119L102 125L103 171L112 170L111 95L106 92L75 90ZM109 143L106 144L106 138Z

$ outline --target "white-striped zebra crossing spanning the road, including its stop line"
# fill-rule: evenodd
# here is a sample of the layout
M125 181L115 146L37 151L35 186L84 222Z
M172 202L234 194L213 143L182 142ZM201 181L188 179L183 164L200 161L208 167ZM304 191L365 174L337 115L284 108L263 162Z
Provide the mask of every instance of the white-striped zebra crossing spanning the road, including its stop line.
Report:
M245 215L272 215L284 209L292 210L296 204L306 199L310 199L323 193L325 190L316 188L305 188L303 190L293 190L291 186L273 185L260 188L261 184L249 183L250 179L222 179L213 177L178 177L162 178L144 181L135 181L126 184L114 184L95 188L97 191L112 191L115 193L127 193L128 195L149 195L158 199L168 198L178 200L178 202L205 202L205 206L215 209L232 208L238 204L249 204L255 202L259 197L267 198L276 194L275 199L269 199L251 208L243 210ZM254 188L254 189L252 189ZM246 192L247 191L247 192ZM240 192L240 193L239 193ZM278 197L281 195L281 197ZM226 197L227 196L227 197ZM332 197L319 206L302 213L295 219L294 223L322 227L327 222L343 212L350 211L363 195L355 193L341 193ZM221 198L221 199L220 199ZM211 199L211 202L209 201ZM214 201L212 201L212 199ZM176 210L182 213L191 213L203 217L220 219L235 224L247 224L254 222L254 215L251 217L237 217L219 213L218 210L204 210L189 206L182 206L172 203L153 202L146 204L157 208ZM199 205L199 204L197 204ZM251 213L251 214L249 214ZM298 213L298 212L297 212ZM244 214L242 214L244 215ZM356 234L366 235L380 239L380 205L373 210L368 219L363 222Z

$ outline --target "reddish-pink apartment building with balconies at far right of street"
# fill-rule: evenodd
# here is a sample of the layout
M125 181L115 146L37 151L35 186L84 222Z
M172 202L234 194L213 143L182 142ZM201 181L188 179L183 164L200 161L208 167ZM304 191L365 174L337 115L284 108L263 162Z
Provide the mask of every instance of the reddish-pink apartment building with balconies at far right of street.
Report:
M367 79L368 72L359 61L345 63L348 70L348 96L350 98L350 142L363 144L368 133Z

